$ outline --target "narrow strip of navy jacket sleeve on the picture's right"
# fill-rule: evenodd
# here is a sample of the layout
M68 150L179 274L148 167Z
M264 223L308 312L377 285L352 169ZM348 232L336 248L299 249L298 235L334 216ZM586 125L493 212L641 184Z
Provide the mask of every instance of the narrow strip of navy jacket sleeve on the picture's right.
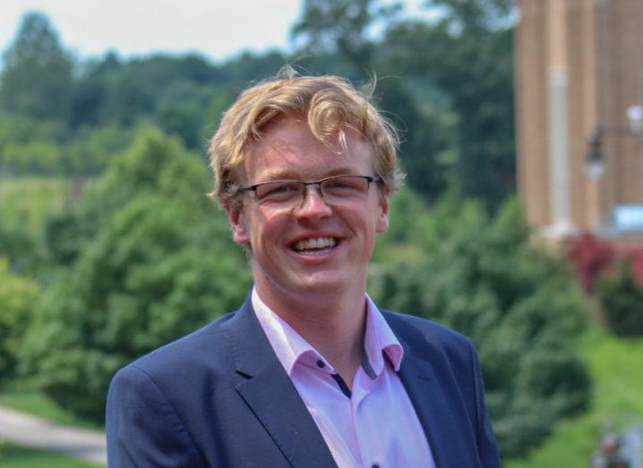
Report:
M471 359L476 387L476 443L478 455L484 468L500 468L500 455L493 436L493 428L484 401L484 379L476 346L471 343Z

